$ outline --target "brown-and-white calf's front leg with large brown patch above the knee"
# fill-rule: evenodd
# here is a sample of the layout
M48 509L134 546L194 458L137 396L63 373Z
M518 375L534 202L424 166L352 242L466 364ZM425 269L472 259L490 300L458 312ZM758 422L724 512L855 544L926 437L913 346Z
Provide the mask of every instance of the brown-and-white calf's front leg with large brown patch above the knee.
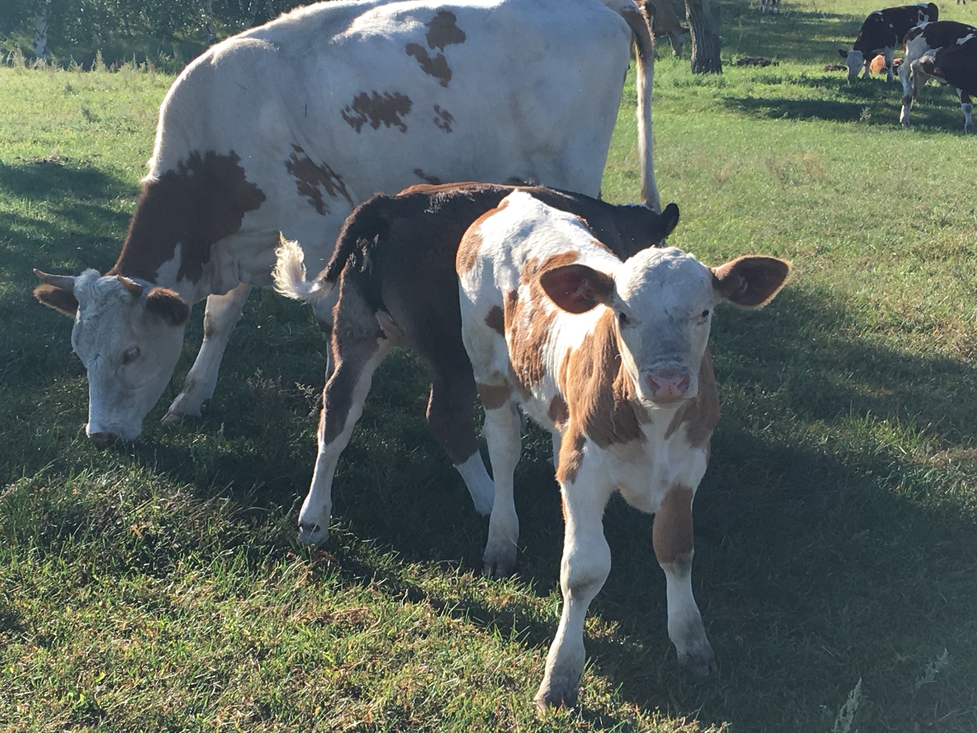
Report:
M712 668L712 647L705 638L702 617L692 594L693 490L673 486L661 499L652 527L652 544L658 565L665 572L668 604L668 638L678 652L679 664L697 674Z

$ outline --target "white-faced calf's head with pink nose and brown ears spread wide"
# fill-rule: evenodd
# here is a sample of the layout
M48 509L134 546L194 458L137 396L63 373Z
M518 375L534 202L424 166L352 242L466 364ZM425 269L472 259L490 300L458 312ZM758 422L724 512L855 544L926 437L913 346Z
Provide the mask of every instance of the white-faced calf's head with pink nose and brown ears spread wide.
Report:
M712 309L726 300L743 308L768 303L790 266L775 257L747 255L708 268L680 249L646 249L614 277L585 265L539 276L560 308L583 313L598 303L613 308L621 362L639 399L669 407L699 394L699 367Z

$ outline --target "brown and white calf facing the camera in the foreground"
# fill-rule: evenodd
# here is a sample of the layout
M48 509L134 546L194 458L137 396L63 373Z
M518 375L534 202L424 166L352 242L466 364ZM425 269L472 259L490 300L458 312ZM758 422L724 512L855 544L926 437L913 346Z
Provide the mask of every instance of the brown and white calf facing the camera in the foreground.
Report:
M707 673L712 649L691 570L692 500L719 416L709 324L724 300L767 303L789 265L745 256L708 268L671 247L622 262L577 218L516 192L469 228L457 270L495 481L489 562L517 541L518 408L560 437L564 604L537 705L576 700L584 617L611 570L602 517L615 492L655 514L668 635L682 664Z

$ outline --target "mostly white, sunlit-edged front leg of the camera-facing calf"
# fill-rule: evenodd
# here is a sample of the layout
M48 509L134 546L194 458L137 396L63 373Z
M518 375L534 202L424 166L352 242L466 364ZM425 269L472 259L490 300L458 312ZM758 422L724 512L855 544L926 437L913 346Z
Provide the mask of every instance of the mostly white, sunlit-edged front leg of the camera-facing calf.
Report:
M604 539L601 521L608 494L581 478L578 474L573 484L560 488L567 523L560 565L563 613L535 697L540 710L546 706L575 705L585 659L583 621L590 601L611 572L611 548Z

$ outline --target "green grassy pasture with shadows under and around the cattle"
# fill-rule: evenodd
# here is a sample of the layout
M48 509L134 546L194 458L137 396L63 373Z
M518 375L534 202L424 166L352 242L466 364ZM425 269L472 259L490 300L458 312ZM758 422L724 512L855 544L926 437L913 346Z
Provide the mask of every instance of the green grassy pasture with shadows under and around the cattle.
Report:
M331 539L299 546L325 344L272 292L203 419L158 426L174 386L138 443L90 448L70 322L30 268L114 261L172 77L2 68L0 730L977 730L975 140L946 89L903 130L895 85L822 70L873 4L716 6L725 73L667 49L656 68L671 243L795 267L713 326L694 582L718 672L676 667L652 520L613 501L580 705L534 715L560 604L548 439L525 438L519 574L485 581L487 523L406 353L340 463ZM747 55L780 65L731 65ZM633 105L616 201L637 196ZM197 312L174 385L199 338Z

